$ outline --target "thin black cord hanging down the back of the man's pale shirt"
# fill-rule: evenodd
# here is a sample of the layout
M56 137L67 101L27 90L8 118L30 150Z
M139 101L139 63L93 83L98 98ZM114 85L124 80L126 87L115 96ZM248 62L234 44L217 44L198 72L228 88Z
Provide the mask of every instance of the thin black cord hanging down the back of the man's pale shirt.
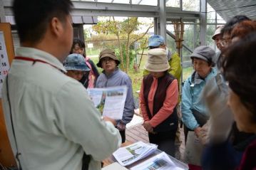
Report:
M11 129L12 129L12 133L14 134L14 142L15 142L15 147L16 147L15 158L18 161L19 170L22 170L22 168L21 168L21 161L19 160L19 156L21 156L21 153L19 152L19 148L18 148L18 144L17 144L17 140L16 140L16 134L15 134L15 130L14 130L14 122L13 122L12 114L11 114L11 101L10 101L10 96L9 96L8 77L9 76L6 75L6 90L7 90L7 100L9 102L9 110L10 110L10 118L11 118Z

